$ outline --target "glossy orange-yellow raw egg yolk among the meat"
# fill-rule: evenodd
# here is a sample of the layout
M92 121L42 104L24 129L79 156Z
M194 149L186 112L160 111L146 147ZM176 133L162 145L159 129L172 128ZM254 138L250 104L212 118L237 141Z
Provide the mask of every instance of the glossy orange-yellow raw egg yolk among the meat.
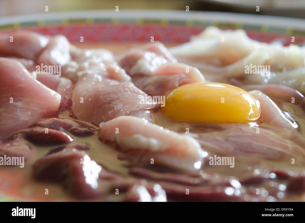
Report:
M260 103L239 87L202 82L171 91L161 111L180 122L252 122L260 117Z

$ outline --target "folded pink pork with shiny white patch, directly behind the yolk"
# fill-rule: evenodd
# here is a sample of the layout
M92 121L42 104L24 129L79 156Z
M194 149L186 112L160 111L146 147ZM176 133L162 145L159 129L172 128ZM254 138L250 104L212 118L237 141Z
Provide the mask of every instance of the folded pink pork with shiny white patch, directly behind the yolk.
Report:
M119 64L138 88L152 96L165 95L187 83L205 81L197 68L178 63L159 42L129 50Z

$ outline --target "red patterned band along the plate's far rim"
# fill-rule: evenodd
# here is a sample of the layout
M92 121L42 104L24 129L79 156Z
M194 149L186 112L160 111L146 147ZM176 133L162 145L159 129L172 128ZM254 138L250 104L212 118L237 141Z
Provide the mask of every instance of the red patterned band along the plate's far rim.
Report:
M143 42L150 41L153 36L155 41L163 43L185 43L190 37L201 33L203 26L185 26L185 25L160 25L160 24L130 24L130 23L80 23L80 24L56 24L46 26L28 26L19 29L1 30L1 33L12 33L16 30L29 30L43 35L62 34L66 36L71 43L80 41L84 37L84 42ZM280 40L285 46L291 44L291 35L270 32L261 32L258 30L246 30L248 36L254 40L270 43L274 40ZM304 36L296 36L294 44L302 44L305 41Z

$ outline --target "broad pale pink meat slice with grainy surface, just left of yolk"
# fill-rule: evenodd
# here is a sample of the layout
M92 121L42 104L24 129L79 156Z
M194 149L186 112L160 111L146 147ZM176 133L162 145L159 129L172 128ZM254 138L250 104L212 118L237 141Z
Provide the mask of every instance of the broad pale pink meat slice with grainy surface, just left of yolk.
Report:
M145 93L131 82L118 82L100 75L84 75L73 92L72 112L77 119L98 126L100 122L121 115L139 115L140 111L149 114L159 108L153 103L142 103L144 98Z

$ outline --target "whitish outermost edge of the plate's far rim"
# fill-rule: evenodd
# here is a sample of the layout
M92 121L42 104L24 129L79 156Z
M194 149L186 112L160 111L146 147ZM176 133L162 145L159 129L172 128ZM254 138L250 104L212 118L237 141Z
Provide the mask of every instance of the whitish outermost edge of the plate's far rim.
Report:
M115 12L109 10L79 10L62 12L42 12L35 14L23 14L16 16L5 16L0 18L0 26L18 23L29 23L37 21L65 20L65 19L163 19L175 21L205 21L211 23L234 23L256 26L272 26L305 30L305 19L255 15L235 12L210 12L210 11L189 11L185 10L134 10L122 9Z

